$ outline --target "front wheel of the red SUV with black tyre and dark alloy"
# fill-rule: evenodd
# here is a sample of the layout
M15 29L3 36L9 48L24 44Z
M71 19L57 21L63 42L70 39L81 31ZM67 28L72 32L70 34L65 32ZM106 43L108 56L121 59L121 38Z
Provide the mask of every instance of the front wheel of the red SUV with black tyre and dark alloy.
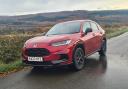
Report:
M79 71L84 68L85 54L82 48L76 48L73 53L73 69Z

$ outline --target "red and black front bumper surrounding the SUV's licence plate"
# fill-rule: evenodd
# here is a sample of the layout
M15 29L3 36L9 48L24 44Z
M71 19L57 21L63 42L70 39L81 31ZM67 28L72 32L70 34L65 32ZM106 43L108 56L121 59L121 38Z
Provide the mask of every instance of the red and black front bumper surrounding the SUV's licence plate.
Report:
M22 54L22 57L23 63L30 66L60 66L72 64L72 50L64 48L59 51L50 52L47 56L42 56L42 62L28 61L28 56L25 54Z

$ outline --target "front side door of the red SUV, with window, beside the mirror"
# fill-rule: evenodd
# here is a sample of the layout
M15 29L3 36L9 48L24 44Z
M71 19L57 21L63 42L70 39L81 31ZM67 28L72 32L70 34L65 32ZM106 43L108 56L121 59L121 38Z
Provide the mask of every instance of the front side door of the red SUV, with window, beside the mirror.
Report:
M84 22L83 24L83 33L86 33L87 28L91 28L91 24L90 22ZM91 54L94 51L94 36L93 36L93 32L89 32L87 34L85 34L82 37L82 40L84 42L84 47L85 47L85 53L86 55Z

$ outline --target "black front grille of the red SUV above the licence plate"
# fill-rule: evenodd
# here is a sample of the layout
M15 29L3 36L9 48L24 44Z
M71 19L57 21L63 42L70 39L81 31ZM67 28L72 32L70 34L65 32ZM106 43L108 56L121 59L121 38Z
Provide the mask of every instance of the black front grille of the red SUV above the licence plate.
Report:
M50 52L45 48L29 48L26 49L25 54L31 57L42 57L42 56L48 56Z

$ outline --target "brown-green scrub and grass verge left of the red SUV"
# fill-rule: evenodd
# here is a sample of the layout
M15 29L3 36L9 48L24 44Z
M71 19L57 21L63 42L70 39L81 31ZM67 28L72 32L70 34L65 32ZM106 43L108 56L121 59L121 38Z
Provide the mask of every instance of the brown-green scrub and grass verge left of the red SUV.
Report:
M0 76L24 68L21 61L21 48L33 35L0 35Z

